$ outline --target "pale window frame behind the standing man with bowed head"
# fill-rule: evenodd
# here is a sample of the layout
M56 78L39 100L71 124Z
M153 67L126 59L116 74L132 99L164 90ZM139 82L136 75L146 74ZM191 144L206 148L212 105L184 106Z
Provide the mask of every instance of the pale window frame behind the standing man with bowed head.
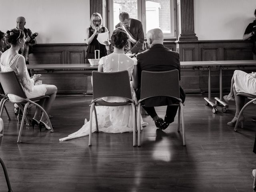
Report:
M146 0L137 0L138 2L138 20L142 22L144 36L146 39ZM113 18L113 0L108 1L109 4L109 31L110 34L113 32L114 24ZM170 0L170 33L164 33L164 41L177 40L177 12L176 12L176 0Z

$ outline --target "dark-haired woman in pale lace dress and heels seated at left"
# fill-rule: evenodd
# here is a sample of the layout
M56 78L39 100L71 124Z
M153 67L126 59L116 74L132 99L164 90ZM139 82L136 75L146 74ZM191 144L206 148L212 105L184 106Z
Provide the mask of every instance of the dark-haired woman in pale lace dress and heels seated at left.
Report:
M24 88L25 94L28 98L35 98L39 96L48 95L50 98L47 98L45 101L40 101L40 104L44 110L48 113L52 103L55 100L57 87L54 85L35 85L35 82L38 81L41 77L40 74L34 75L30 78L28 74L28 69L26 67L24 56L18 54L20 48L24 46L25 43L25 34L20 29L12 29L6 32L6 39L11 44L10 49L6 50L0 60L0 67L2 72L14 71L20 80L21 85ZM19 101L18 96L9 96L11 100ZM32 126L38 125L41 128L47 128L50 130L50 126L47 122L46 116L44 113L41 116L41 110L36 108L34 118L32 119Z

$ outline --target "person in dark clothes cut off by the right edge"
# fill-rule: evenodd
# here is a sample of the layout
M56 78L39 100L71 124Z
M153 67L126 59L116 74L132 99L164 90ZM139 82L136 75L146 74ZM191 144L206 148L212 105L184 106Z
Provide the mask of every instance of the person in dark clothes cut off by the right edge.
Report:
M254 17L256 18L256 9L254 11ZM253 42L252 57L254 60L256 60L256 20L248 24L246 27L243 40L251 40Z

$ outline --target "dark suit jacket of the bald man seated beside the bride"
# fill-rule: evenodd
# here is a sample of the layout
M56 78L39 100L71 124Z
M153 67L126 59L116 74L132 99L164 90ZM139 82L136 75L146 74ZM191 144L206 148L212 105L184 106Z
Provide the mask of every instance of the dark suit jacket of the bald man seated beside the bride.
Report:
M150 49L141 52L137 55L138 61L138 74L139 74L139 87L141 80L141 72L145 71L170 71L178 69L180 78L180 56L177 52L171 51L164 47L162 44L154 44ZM136 92L138 99L140 98L140 89ZM180 98L185 101L185 92L180 87ZM147 107L151 106L164 106L173 104L174 100L166 97L157 97L145 100Z

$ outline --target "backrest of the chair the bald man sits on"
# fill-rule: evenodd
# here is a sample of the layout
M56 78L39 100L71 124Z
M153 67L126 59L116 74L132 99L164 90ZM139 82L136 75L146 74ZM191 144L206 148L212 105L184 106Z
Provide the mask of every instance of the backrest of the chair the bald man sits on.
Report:
M140 99L156 96L180 98L179 71L151 72L142 71Z

